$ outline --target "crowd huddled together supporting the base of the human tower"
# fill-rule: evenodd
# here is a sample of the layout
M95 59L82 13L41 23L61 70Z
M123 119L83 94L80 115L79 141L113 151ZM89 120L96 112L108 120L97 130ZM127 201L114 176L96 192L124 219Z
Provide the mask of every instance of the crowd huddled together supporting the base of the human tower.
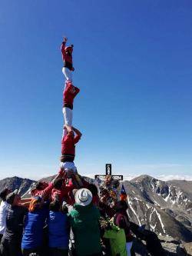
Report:
M96 185L84 178L81 182L77 189L61 170L50 184L38 182L31 198L21 199L17 190L5 188L0 194L0 254L65 256L70 245L77 256L106 250L108 255L127 255L126 242L132 240L127 203L110 207L106 198L99 198Z

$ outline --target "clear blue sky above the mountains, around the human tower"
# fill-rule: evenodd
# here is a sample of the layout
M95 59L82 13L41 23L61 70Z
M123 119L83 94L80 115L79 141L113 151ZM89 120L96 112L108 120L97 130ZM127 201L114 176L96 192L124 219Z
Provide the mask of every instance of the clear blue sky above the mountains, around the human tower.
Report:
M10 0L0 7L0 178L58 171L63 35L74 44L81 88L74 101L80 174L102 173L109 162L126 176L190 176L190 0Z

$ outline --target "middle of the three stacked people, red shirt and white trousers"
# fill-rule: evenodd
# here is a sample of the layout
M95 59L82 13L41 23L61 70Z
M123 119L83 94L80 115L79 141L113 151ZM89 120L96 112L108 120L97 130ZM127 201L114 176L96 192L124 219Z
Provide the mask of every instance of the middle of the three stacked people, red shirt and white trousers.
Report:
M66 82L65 90L63 91L63 115L65 125L72 125L74 97L78 95L79 91L80 89L72 85L71 81Z

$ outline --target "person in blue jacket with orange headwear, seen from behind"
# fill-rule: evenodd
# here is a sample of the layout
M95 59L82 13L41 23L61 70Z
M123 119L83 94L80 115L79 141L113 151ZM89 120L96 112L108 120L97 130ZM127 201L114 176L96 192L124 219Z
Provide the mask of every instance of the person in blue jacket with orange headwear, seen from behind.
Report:
M43 198L32 198L25 219L25 231L22 238L22 254L29 256L42 256L43 253L43 230L48 218L48 204Z

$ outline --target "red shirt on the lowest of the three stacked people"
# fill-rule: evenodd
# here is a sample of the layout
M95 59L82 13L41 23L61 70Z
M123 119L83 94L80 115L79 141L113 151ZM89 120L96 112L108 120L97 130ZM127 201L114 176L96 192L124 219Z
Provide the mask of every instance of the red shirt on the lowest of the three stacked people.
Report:
M61 162L74 161L75 144L78 143L81 136L70 134L65 135L61 140Z

